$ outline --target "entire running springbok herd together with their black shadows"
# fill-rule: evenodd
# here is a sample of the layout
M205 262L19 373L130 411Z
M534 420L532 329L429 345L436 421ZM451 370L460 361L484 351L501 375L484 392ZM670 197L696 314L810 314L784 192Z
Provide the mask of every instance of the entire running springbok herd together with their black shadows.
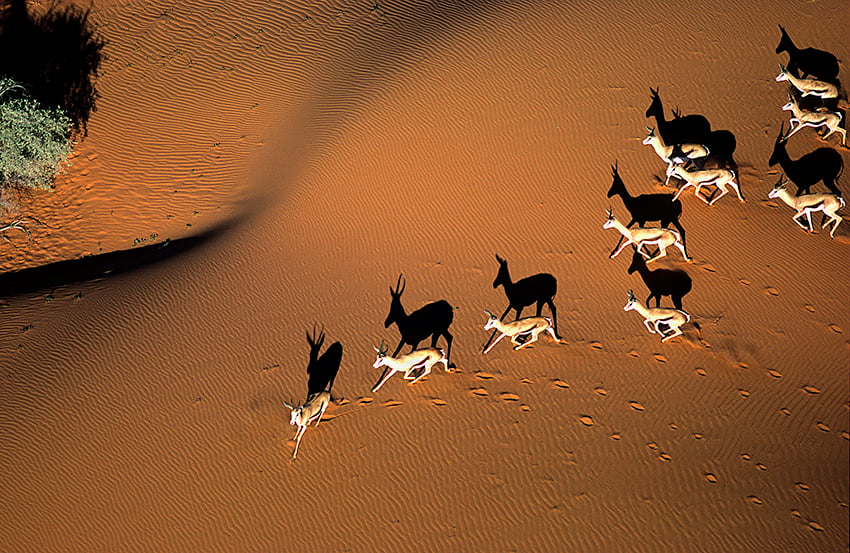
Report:
M792 220L807 232L814 232L812 213L822 212L821 228L831 224L829 234L834 237L835 230L842 220L837 212L845 205L836 186L836 180L843 169L841 154L833 148L822 147L792 160L785 145L791 136L804 127L812 127L820 129L823 140L837 133L841 137L842 146L846 147L846 114L838 105L842 96L838 81L838 61L829 52L814 48L797 48L785 29L782 26L779 28L781 39L776 53L787 52L789 59L787 65L780 64L776 81L790 84L788 102L782 109L790 112L791 118L787 131L784 124L781 126L768 161L771 166L778 163L784 173L780 175L769 197L778 198L793 208L795 213ZM609 258L616 257L626 246L631 245L634 253L629 273L637 271L650 291L644 305L637 300L633 291L629 290L628 302L623 309L636 311L643 317L647 330L659 334L661 341L667 342L681 335L681 327L691 319L690 315L682 310L682 298L691 290L691 278L679 269L650 270L648 264L666 256L667 248L671 246L678 249L685 260L691 260L687 253L685 229L679 223L682 215L679 197L689 187L693 187L694 195L708 206L714 205L725 196L729 188L741 202L744 202L744 197L736 182L738 167L733 157L736 148L735 135L727 130L712 130L709 122L701 115L683 116L674 110L673 119L665 119L658 90L650 89L650 92L652 102L646 111L646 117L655 118L656 128L646 128L647 135L643 144L651 146L666 164L665 185L673 179L681 181L682 185L675 194L632 196L615 164L612 166L613 182L608 197L620 196L631 215L631 220L628 224L623 224L614 217L613 210L609 209L603 228L616 229L621 235ZM829 189L829 193L811 193L812 185L821 181ZM788 190L788 184L791 182L797 186L796 194ZM711 192L706 196L703 190ZM804 216L805 223L801 221ZM660 227L645 227L649 221L658 221ZM638 224L637 227L634 227L635 223ZM671 224L677 230L669 229ZM652 246L655 247L654 255L646 249ZM510 338L514 350L536 342L541 334L549 334L554 341L560 342L554 304L557 291L555 277L540 273L513 282L507 261L498 255L496 260L499 263L499 271L493 287L504 288L508 307L501 317L486 311L487 321L484 329L492 329L493 333L485 344L483 353L489 352L505 337ZM376 359L373 367L384 367L384 373L372 388L373 393L397 372L403 373L404 378L414 384L428 375L435 365L442 364L445 370L453 366L450 361L453 338L449 332L454 318L453 308L446 301L437 301L408 314L401 304L405 285L403 277L399 276L396 287L390 288L390 313L385 326L395 324L401 334L401 340L392 355L389 354L386 342L382 342L380 348L375 348ZM660 307L662 296L670 296L674 308ZM649 307L653 297L655 307ZM523 309L531 305L536 305L536 315L521 317ZM549 307L551 319L541 316L544 305ZM512 310L516 313L515 320L505 322L505 317ZM699 328L696 323L694 325ZM419 344L429 337L430 347L419 348ZM436 347L440 337L446 340L445 351ZM317 334L315 329L312 335L307 335L310 345L307 401L301 406L286 404L291 409L290 423L297 427L293 460L298 455L298 446L307 426L311 423L319 424L331 401L331 387L342 359L342 346L339 342L331 345L319 356L324 338L324 331ZM411 351L399 355L405 345L410 345Z

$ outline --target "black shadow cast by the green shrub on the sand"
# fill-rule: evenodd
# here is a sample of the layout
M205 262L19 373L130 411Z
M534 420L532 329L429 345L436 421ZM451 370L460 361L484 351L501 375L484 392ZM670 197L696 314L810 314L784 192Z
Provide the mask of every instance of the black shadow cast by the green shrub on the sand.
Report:
M26 0L0 0L0 75L23 84L43 105L64 108L83 134L95 110L104 46L88 18L89 10L73 5L51 3L34 16Z

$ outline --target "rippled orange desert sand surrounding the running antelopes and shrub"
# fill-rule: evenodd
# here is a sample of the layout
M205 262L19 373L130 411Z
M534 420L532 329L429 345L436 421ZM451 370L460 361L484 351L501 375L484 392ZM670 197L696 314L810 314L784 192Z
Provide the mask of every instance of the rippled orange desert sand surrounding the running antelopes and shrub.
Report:
M4 270L225 230L2 300L3 551L846 551L850 225L803 233L766 160L776 24L846 64L850 7L563 4L96 3L89 137ZM701 335L665 344L602 229L615 159L663 190L650 86L735 132L748 199L683 196L695 261L657 265ZM495 253L558 278L564 343L479 353ZM399 273L458 370L368 395ZM291 463L314 322L341 404Z

